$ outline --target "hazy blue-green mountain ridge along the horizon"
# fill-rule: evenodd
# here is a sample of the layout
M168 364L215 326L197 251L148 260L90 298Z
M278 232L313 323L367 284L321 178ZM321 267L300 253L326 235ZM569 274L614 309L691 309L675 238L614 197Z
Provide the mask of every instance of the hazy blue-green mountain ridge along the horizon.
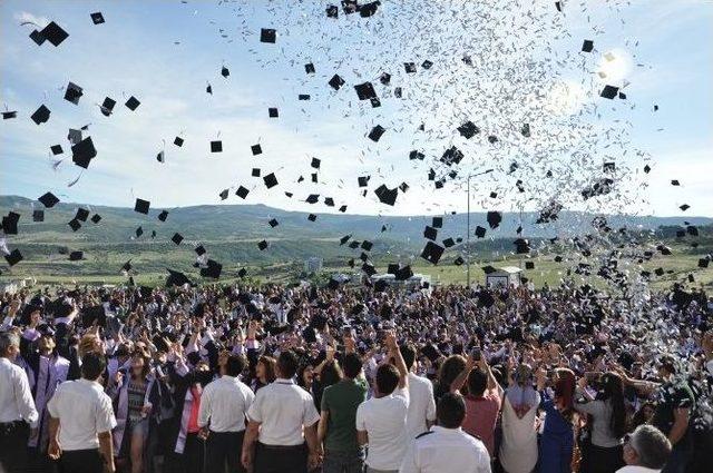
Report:
M79 230L72 231L68 226L78 208L90 210L90 215L99 214L101 221L82 223ZM45 209L42 204L18 196L0 196L0 211L7 215L13 210L21 215L19 235L13 237L21 243L127 243L131 242L139 226L144 235L138 240L149 239L152 230L156 230L156 240L169 240L174 233L182 234L187 240L199 242L241 242L261 239L334 239L352 234L356 239L387 240L402 245L421 246L423 229L431 225L433 216L379 217L364 215L318 214L315 221L307 219L309 214L286 211L264 205L204 205L168 208L165 223L157 219L163 208L152 208L148 215L134 211L133 208L88 206L81 204L59 203L45 209L45 221L32 221L32 209ZM504 213L502 221L496 229L490 229L486 213L471 213L471 239L475 228L487 229L486 238L512 238L519 226L522 236L528 238L549 238L556 235L574 236L592 231L594 214L578 211L560 211L556 220L536 224L537 213ZM467 215L438 215L443 218L438 239L466 236ZM677 226L684 221L691 225L710 225L709 217L651 217L651 216L604 216L612 228L652 230L661 226ZM271 228L268 221L276 219L279 225ZM385 226L385 231L381 231Z

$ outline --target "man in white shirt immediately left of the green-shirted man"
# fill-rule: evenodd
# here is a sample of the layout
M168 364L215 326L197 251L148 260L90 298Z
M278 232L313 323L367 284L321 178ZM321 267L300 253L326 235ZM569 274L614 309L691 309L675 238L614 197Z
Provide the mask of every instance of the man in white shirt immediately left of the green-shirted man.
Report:
M254 465L254 473L306 473L319 462L320 414L312 395L293 381L299 363L294 352L282 352L277 380L257 392L247 411L242 460L246 469Z

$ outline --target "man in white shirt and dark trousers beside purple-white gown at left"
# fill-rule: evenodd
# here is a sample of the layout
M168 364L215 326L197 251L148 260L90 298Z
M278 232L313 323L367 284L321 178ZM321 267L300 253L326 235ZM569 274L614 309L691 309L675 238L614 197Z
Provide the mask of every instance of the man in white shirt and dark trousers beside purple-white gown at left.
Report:
M59 459L61 471L114 473L111 430L116 427L111 398L98 380L106 369L102 355L81 358L81 378L59 385L47 404L49 456Z

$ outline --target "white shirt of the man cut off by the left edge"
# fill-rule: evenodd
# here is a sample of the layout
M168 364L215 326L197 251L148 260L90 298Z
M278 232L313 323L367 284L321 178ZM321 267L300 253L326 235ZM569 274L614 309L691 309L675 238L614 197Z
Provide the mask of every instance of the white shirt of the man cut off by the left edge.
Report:
M25 421L35 428L38 418L27 373L4 356L0 357L0 422Z

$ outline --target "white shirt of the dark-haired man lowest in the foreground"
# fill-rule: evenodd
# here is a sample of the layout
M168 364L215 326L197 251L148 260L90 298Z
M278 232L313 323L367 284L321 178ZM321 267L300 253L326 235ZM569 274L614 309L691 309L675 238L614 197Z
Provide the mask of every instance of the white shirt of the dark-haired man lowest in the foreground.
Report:
M431 427L411 442L399 473L490 473L485 444L462 428Z

